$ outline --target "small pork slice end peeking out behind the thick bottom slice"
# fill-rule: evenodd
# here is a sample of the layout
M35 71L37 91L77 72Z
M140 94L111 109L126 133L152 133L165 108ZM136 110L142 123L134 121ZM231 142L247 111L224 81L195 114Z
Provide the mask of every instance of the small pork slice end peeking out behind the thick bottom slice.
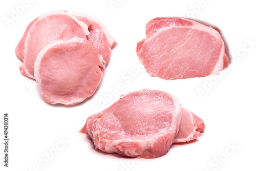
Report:
M184 108L181 113L179 132L174 142L188 142L200 137L204 131L204 121Z

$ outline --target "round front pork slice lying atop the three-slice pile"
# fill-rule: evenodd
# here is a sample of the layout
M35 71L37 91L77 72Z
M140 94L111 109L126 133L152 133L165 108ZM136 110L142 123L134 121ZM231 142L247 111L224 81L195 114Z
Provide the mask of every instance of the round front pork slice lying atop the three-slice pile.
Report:
M73 105L93 95L103 75L103 63L90 41L71 27L42 49L35 60L35 79L45 101Z

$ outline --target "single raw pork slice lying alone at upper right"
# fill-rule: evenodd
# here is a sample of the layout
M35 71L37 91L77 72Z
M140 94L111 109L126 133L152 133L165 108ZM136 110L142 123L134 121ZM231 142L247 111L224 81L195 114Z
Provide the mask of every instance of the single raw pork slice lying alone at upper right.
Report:
M224 41L211 27L185 18L155 18L137 55L148 74L166 80L205 77L228 66Z

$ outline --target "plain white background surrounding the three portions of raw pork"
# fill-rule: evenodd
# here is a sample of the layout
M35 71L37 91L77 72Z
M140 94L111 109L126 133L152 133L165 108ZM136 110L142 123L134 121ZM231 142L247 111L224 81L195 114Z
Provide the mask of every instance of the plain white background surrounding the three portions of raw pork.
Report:
M250 48L246 42L256 41L253 1L205 0L203 5L199 0L113 2L118 5L112 8L109 0L34 0L9 26L4 18L11 18L12 10L22 4L17 0L1 3L1 137L4 112L9 113L10 122L9 167L3 166L1 138L1 170L255 170L256 45ZM193 11L198 5L201 7ZM35 81L19 72L22 61L15 55L27 25L38 15L59 9L96 17L118 42L95 94L74 106L45 102ZM166 16L189 17L219 28L231 58L228 69L219 77L173 81L150 77L143 68L138 69L135 48L145 37L146 23ZM107 95L117 82L122 83L121 89ZM200 96L198 90L204 87L207 91ZM202 136L172 145L157 159L130 159L96 151L88 137L78 133L87 117L96 112L93 106L108 108L121 94L146 88L175 94L184 108L204 120ZM65 146L58 144L59 139L67 141ZM49 152L54 156L47 161Z

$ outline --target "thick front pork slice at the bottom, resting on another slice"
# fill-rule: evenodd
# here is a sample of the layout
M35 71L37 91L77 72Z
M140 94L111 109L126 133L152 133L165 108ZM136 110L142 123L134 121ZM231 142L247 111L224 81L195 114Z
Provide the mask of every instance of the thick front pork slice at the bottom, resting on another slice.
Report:
M157 158L175 142L182 116L187 117L174 95L141 90L122 95L108 109L88 117L80 133L89 134L95 147L106 153ZM191 129L184 126L182 131L190 134Z

